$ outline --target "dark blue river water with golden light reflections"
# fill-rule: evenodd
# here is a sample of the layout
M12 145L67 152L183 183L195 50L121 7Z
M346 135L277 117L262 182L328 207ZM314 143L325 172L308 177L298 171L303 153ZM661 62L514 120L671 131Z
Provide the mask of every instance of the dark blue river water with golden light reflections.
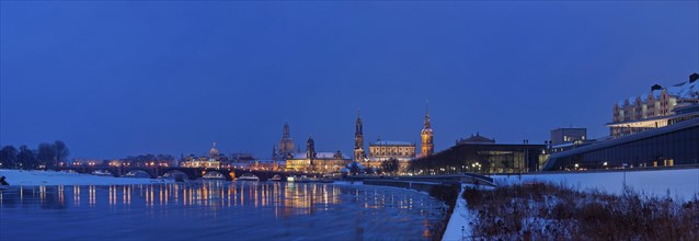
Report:
M445 207L406 190L318 183L0 192L0 240L429 240Z

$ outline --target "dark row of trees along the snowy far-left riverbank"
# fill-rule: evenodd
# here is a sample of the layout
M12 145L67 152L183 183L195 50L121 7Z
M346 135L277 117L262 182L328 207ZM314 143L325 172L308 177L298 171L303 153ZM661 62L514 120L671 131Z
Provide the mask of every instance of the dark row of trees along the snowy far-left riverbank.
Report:
M14 148L4 146L0 149L0 167L7 169L56 169L66 160L70 150L61 140L53 144L39 144L36 149L26 145Z

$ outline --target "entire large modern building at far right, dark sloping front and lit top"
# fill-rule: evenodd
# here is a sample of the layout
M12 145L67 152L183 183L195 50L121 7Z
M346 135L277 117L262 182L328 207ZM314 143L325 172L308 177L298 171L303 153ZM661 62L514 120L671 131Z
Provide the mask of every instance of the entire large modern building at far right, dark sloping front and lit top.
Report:
M653 85L648 94L620 101L612 139L555 152L545 170L654 168L699 161L699 73L672 87Z

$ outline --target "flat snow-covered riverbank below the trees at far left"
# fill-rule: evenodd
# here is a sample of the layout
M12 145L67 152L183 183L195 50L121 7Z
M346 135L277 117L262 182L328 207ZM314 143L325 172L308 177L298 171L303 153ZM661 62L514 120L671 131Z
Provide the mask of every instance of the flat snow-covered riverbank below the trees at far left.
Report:
M7 169L0 169L0 176L4 176L11 186L127 185L172 182L170 180L114 177L55 171L21 171Z

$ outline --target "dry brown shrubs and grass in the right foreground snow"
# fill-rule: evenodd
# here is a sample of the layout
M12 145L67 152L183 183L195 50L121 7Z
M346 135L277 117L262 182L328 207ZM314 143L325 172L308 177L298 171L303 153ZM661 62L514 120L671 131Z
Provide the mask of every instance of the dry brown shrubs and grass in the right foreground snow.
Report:
M581 192L564 185L466 188L477 237L503 240L699 240L699 199Z

